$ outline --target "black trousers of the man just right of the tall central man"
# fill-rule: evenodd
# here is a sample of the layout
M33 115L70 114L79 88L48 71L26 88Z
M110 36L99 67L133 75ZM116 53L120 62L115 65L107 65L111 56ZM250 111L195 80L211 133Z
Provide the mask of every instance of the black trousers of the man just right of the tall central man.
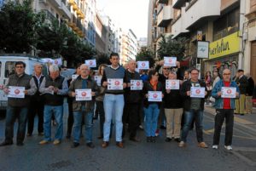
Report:
M129 124L130 138L136 137L137 128L140 124L140 105L137 103L126 103L123 114L123 137L125 136L125 123Z

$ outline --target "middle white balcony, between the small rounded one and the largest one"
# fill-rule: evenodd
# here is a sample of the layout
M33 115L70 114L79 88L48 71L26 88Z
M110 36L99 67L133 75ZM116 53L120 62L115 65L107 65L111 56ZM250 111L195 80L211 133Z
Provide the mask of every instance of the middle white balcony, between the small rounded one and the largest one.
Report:
M184 14L185 9L182 8L182 14ZM187 32L189 32L188 30L186 30L185 26L184 26L184 16L180 15L179 17L177 17L177 19L175 21L172 21L172 35L173 38L177 37L177 36L181 36L186 34Z

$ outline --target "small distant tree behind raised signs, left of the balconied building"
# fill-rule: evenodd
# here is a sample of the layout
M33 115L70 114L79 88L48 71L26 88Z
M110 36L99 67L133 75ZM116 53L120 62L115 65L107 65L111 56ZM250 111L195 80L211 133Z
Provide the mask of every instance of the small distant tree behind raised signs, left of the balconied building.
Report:
M149 61L149 67L154 66L153 52L150 48L141 48L140 52L136 55L136 60L146 60Z

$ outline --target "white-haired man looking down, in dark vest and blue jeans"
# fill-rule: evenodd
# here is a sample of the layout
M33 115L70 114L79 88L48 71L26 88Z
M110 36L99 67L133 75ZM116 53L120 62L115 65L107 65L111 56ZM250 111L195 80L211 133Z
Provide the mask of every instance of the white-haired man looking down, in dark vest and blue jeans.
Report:
M44 94L44 140L40 145L49 143L51 140L51 117L55 116L57 128L55 132L54 145L61 144L63 134L63 100L67 94L67 80L60 75L58 66L49 66L49 77L44 77L39 91Z

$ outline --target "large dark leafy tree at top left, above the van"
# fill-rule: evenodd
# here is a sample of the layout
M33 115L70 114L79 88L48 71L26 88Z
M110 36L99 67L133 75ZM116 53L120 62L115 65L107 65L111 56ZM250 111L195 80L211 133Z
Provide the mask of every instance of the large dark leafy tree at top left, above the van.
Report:
M0 49L6 53L29 53L36 43L34 32L42 23L33 13L32 0L10 1L0 9Z

